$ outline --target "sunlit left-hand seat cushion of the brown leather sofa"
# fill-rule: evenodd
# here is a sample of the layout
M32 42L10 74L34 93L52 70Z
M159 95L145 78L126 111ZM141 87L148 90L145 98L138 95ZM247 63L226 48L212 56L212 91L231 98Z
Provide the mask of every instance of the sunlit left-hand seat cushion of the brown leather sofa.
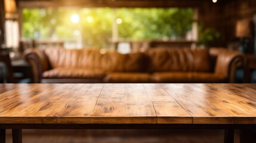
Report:
M100 69L83 69L74 67L56 67L52 70L44 71L42 74L43 78L46 79L78 79L78 78L88 78L88 79L102 79L105 76L105 72Z

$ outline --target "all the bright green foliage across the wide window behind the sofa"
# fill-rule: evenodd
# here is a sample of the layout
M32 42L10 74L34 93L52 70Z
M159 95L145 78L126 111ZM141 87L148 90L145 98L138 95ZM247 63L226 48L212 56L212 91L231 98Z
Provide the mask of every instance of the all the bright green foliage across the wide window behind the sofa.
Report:
M80 15L79 23L70 16ZM113 8L47 8L23 10L23 38L76 41L82 31L85 46L107 48L112 38ZM184 38L192 29L192 8L118 8L119 39Z

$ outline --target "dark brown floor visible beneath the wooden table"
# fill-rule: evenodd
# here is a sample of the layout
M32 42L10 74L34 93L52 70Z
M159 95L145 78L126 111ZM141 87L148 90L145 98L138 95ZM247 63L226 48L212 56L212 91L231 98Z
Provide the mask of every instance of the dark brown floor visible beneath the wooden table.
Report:
M224 130L23 130L23 143L221 143L223 138Z

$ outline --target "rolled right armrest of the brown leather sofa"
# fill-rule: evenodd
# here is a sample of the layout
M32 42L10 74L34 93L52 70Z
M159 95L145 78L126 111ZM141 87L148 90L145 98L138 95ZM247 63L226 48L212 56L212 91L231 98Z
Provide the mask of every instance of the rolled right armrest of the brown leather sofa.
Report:
M209 54L216 57L215 74L225 77L229 83L235 83L236 69L245 63L244 55L224 48L210 48Z

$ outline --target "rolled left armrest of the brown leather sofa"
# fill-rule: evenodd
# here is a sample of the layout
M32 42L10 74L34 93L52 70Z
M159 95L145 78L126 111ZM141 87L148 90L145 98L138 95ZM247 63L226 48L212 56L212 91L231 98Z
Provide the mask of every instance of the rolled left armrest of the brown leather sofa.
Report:
M24 51L24 57L32 66L33 70L33 82L40 83L42 79L42 73L50 69L48 64L48 58L42 49L26 49Z

